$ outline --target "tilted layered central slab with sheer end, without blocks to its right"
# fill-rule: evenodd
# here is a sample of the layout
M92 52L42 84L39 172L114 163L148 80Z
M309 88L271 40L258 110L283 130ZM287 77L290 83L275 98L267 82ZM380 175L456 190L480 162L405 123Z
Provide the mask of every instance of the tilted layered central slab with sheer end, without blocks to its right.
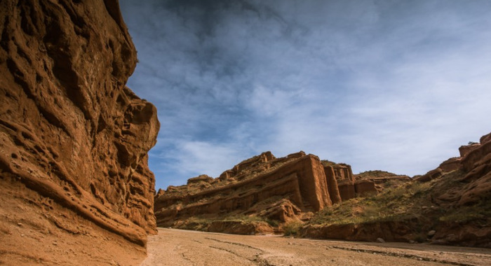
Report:
M332 182L332 180L330 181ZM254 215L285 222L332 205L332 190L321 160L303 152L275 158L270 152L245 160L213 181L189 179L155 200L159 226L175 226L191 216L217 220ZM338 195L339 197L339 195Z

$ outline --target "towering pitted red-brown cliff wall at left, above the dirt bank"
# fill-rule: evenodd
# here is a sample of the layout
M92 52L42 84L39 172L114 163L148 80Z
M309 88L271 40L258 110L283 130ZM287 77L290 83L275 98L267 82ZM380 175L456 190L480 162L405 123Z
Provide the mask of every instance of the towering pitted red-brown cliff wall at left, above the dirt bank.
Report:
M147 152L159 121L125 85L136 51L118 1L1 6L1 193L59 204L144 246L156 232Z

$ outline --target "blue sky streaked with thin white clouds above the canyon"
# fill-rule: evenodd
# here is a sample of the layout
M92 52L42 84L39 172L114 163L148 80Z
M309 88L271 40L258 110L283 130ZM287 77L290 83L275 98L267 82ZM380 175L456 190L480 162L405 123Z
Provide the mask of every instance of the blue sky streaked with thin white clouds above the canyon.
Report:
M413 176L491 130L491 1L120 5L157 189L263 151Z

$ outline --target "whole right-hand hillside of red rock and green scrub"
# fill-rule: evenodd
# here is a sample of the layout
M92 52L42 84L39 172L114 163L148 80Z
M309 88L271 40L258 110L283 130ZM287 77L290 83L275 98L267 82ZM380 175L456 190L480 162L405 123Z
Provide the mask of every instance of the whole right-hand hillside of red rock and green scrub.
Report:
M461 157L450 158L412 181L381 171L356 175L355 190L365 189L359 188L365 181L371 181L377 190L391 189L321 211L302 228L301 235L490 248L491 134L459 151Z

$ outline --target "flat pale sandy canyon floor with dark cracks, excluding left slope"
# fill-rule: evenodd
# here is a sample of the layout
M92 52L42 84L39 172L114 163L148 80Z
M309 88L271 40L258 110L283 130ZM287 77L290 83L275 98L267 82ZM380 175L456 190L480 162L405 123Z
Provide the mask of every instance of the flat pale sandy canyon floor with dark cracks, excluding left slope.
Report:
M491 265L491 250L159 228L142 265Z

